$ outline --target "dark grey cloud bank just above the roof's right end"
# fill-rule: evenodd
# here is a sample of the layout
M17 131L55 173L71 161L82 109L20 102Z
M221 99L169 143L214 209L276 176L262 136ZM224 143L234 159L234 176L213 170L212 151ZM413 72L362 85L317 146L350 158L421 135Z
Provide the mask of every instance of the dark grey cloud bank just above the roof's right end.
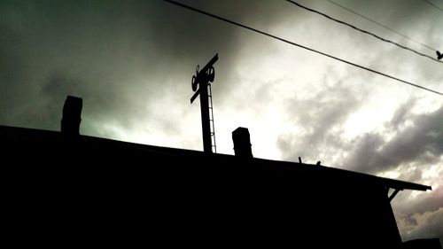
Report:
M403 112L404 108L400 106L396 113ZM413 115L408 121L412 125L400 129L389 141L377 133L357 138L344 166L355 171L377 173L408 162L439 162L443 154L443 106L433 113ZM398 115L394 115L388 125L397 126L399 122Z

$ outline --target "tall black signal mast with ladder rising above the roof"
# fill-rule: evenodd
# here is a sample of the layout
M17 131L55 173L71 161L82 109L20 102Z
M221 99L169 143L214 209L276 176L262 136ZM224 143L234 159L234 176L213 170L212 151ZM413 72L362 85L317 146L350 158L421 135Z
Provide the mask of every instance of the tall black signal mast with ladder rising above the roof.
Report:
M190 97L190 104L192 104L197 96L200 95L201 132L203 136L203 151L206 153L212 153L213 147L214 152L216 152L213 100L212 93L209 96L207 88L211 87L210 82L214 82L215 70L213 65L218 59L219 55L217 53L215 54L214 58L211 58L211 60L201 70L199 70L200 66L197 65L195 71L196 74L192 76L191 81L191 87L192 90L195 91L195 93L192 97ZM209 99L209 97L211 97L211 99ZM211 103L211 106L209 106L209 103ZM209 115L209 111L211 111L212 116ZM214 144L212 136L214 136Z

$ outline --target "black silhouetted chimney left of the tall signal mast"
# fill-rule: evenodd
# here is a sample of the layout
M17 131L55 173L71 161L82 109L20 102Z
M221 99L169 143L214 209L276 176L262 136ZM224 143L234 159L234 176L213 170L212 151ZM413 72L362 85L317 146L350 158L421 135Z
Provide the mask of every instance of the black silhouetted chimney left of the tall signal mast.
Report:
M66 97L65 105L63 105L63 116L61 119L61 133L69 136L78 136L80 134L80 122L82 121L82 105L81 97Z

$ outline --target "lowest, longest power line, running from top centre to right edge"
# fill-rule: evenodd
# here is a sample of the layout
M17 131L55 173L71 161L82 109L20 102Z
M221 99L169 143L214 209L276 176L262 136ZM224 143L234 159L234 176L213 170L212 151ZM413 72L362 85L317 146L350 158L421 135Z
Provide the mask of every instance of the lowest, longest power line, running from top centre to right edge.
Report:
M314 50L314 49L311 49L311 48L308 48L308 47L306 47L306 46L300 45L300 44L298 44L298 43L293 43L293 42L291 42L291 41L285 40L284 38L280 38L280 37L278 37L278 36L276 36L276 35L270 35L270 34L264 32L264 31L260 31L260 30L258 30L258 29L256 29L256 28L248 27L248 26L245 26L244 24L238 23L238 22L236 22L236 21L233 21L233 20L230 20L230 19L222 18L221 16L217 16L217 15L212 14L212 13L210 13L210 12L205 12L205 11L202 11L202 10L196 9L196 8L194 8L194 7L191 7L191 6L189 6L189 5L181 4L181 3L175 2L175 1L173 1L173 0L164 0L164 1L167 2L167 3L170 3L170 4L175 4L175 5L181 6L181 7L185 8L185 9L188 9L188 10L193 11L193 12L198 12L198 13L200 13L200 14L204 14L204 15L209 16L209 17L212 17L212 18L214 18L214 19L220 19L220 20L222 20L222 21L228 22L228 23L230 23L230 24L232 24L232 25L235 25L235 26L238 26L238 27L243 27L243 28L249 29L249 30L251 30L251 31L253 31L253 32L259 33L259 34L261 34L261 35L266 35L266 36L268 36L268 37L274 38L274 39L276 39L276 40L278 40L278 41L281 41L281 42L284 42L284 43L289 43L289 44L291 44L291 45L294 45L294 46L297 46L297 47L299 47L299 48L305 49L305 50L307 50L307 51L313 51L313 52L318 53L318 54L321 54L321 55L323 55L323 56L325 56L325 57L333 58L333 59L336 59L336 60L341 61L341 62L343 62L343 63L346 63L346 64L348 64L348 65L355 66L355 67L359 67L359 68L361 68L361 69L367 70L367 71L369 71L369 72L371 72L371 73L383 75L383 76L385 76L385 77L387 77L387 78L390 78L390 79L392 79L392 80L394 80L394 81L402 82L402 83L408 84L408 85L410 85L410 86L414 86L414 87L419 88L419 89L424 89L424 90L427 90L427 91L431 91L431 92L433 92L433 93L436 93L436 94L438 94L438 95L442 95L442 96L443 96L443 93L441 93L441 92L439 92L439 91L436 91L436 90L433 90L433 89L428 89L428 88L425 88L425 87L423 87L423 86L420 86L420 85L417 85L417 84L415 84L415 83L411 83L411 82L407 82L407 81L401 80L401 79L399 79L399 78L396 78L396 77L391 76L391 75L388 75L388 74L380 73L380 72L378 72L378 71L376 71L376 70L374 70L374 69L370 69L369 67L360 66L360 65L355 64L355 63L353 63L353 62L347 61L347 60L345 60L345 59L343 59L343 58L337 58L337 57L331 56L331 55L329 55L329 54L327 54L327 53L324 53L324 52L322 52L322 51L316 51L316 50Z

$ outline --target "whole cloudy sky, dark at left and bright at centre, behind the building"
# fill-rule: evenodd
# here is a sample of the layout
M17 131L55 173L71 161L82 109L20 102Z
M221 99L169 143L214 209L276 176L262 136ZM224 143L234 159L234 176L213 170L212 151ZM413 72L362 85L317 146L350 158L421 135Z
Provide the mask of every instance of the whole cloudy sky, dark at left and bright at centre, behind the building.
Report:
M334 0L443 51L443 12L421 0ZM443 64L286 1L185 1L206 12L443 92ZM309 8L426 48L326 0ZM443 0L429 0L443 9ZM0 1L0 125L59 130L67 95L81 134L202 151L191 77L215 53L217 152L249 129L253 155L431 185L392 200L403 241L443 243L443 97L163 1Z

